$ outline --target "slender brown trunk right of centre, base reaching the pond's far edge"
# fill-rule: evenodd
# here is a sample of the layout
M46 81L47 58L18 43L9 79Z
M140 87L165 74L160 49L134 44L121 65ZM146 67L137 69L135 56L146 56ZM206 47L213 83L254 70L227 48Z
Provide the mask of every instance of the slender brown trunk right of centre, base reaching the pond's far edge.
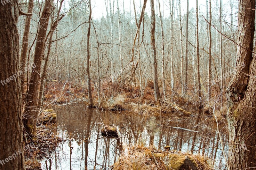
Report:
M198 0L196 0L196 58L197 58L197 85L198 85L198 97L200 102L200 107L202 106L201 103L201 82L200 82L200 60L199 60L199 35L198 35Z

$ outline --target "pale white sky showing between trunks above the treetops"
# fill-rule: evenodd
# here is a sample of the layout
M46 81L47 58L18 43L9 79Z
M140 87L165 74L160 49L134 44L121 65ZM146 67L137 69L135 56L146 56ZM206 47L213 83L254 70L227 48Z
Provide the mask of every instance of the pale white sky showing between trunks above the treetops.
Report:
M109 5L109 1L107 1L107 5ZM135 0L135 6L136 6L136 12L140 9L140 1L141 1L141 6L143 5L143 0ZM212 0L212 10L213 8L216 8L216 1L219 4L219 0ZM223 8L230 8L230 5L228 4L230 0L222 0L223 1ZM237 6L238 0L231 0L235 1ZM106 16L106 6L105 6L105 0L91 0L92 2L92 17L93 19L99 19L102 16ZM120 13L123 13L123 2L124 2L124 10L127 11L132 11L132 14L134 14L133 10L133 1L132 0L119 0L119 10ZM157 14L159 13L159 7L158 7L158 1L156 3L156 0L154 0L154 4L156 7L157 4ZM168 17L170 15L170 9L169 9L169 0L160 0L160 5L161 5L161 10L162 10L162 15L164 17ZM113 8L113 0L111 0L111 8ZM176 7L176 0L174 0L174 6ZM191 8L196 8L196 0L189 0L189 10ZM200 7L200 12L205 12L206 11L206 0L198 0L198 8ZM116 7L116 0L115 0L115 11L117 10ZM184 13L187 10L187 0L181 0L181 13L184 15ZM225 10L225 9L224 9ZM163 12L164 11L164 12ZM150 1L148 0L147 6L146 6L146 12L150 15ZM156 8L155 8L156 12Z

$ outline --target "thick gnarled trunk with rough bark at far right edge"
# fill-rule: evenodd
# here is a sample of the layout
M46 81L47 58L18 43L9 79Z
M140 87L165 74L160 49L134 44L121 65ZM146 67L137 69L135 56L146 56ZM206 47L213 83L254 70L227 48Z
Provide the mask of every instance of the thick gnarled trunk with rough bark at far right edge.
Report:
M236 70L227 89L228 162L231 170L251 169L249 167L255 167L256 163L256 60L255 56L252 57L254 20L255 0L240 0Z

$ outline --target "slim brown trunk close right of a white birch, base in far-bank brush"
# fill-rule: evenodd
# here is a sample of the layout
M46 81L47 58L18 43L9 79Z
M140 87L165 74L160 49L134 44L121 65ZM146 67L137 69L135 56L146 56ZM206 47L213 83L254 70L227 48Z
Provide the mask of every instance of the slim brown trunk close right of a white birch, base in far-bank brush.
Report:
M185 52L185 84L184 92L187 93L188 90L188 0L187 0L187 17L186 17L186 52Z

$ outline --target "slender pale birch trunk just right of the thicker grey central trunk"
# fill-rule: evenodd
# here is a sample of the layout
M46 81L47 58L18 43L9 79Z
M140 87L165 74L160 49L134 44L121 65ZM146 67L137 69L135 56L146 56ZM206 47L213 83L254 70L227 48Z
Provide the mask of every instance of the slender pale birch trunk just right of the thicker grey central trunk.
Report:
M159 5L159 15L160 15L160 23L161 23L161 33L162 33L162 80L163 80L163 93L164 100L167 99L166 95L166 87L165 87L165 76L164 76L164 29L163 29L163 20L162 20L162 12L160 8L160 1L158 1Z

